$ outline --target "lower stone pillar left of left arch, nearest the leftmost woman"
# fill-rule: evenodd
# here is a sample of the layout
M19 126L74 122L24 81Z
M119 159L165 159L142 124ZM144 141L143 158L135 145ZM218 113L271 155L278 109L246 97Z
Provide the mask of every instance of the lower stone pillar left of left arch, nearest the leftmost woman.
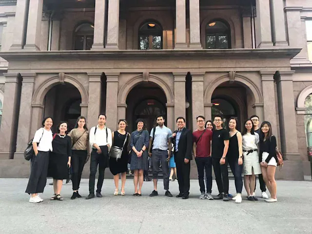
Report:
M17 133L17 148L14 158L23 158L25 146L30 140L30 126L32 118L31 102L34 93L36 73L21 74L22 86L20 95L19 131Z

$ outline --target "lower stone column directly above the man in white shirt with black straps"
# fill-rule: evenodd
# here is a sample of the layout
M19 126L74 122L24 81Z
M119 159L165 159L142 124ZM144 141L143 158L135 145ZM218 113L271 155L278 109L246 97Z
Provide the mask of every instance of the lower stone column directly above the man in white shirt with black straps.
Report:
M88 76L89 76L89 104L88 104L87 122L89 128L91 128L98 125L98 115L100 114L100 106L101 106L102 73L88 73Z

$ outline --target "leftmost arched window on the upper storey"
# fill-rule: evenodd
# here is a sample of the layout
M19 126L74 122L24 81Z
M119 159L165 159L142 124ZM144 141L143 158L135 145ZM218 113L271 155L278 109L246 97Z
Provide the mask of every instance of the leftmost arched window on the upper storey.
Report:
M93 44L94 26L82 23L75 30L75 50L90 50Z

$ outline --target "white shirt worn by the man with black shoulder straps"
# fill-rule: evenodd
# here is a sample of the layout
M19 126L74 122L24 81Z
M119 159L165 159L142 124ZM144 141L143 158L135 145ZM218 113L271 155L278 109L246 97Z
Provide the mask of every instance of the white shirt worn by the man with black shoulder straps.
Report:
M94 135L96 128L97 132L96 135ZM104 126L102 130L99 128L98 125L91 128L89 142L93 149L95 149L95 147L93 147L93 144L97 144L98 146L109 145L109 147L112 147L112 131L109 128L107 128L107 138L108 139L106 139L106 126Z

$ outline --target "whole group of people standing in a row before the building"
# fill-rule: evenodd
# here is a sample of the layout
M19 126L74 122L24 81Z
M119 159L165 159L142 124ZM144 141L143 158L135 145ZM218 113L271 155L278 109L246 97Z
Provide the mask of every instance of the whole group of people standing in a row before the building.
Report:
M45 117L42 128L33 138L35 155L31 159L31 174L26 193L29 202L41 202L38 195L43 193L47 176L53 178L54 195L51 200L63 200L60 195L63 179L68 177L68 168L72 167L73 195L71 199L81 197L79 184L85 163L90 156L89 195L86 199L102 197L101 189L104 172L109 168L114 175L115 192L119 195L119 175L121 177L120 195L125 195L128 163L134 171L134 196L141 196L144 171L149 168L149 157L153 168L154 190L150 196L158 195L157 177L159 166L163 173L165 195L172 197L169 191L169 161L175 164L179 194L176 197L189 198L190 161L195 157L200 187L200 199L223 199L229 201L228 164L234 174L236 203L242 201L244 175L248 200L257 201L254 195L255 175L259 175L262 197L271 197L267 202L275 202L276 183L274 180L277 158L275 154L276 138L272 134L271 124L264 121L259 128L259 117L252 116L244 122L242 133L236 130L237 119L229 119L229 130L222 127L223 118L215 116L214 121L205 122L205 117L196 117L198 128L192 133L186 129L184 117L176 119L177 130L172 131L164 123L163 116L156 117L157 125L146 130L143 119L137 119L136 130L126 132L127 121L118 120L118 130L112 132L105 126L106 116L98 116L98 125L88 131L85 117L78 117L76 126L67 134L67 123L61 121L57 133L52 134L53 120ZM91 152L89 149L91 147ZM91 153L91 154L90 154ZM212 168L219 194L212 193ZM95 193L95 178L98 171L98 183ZM173 173L172 173L173 174ZM206 183L205 183L206 182Z

